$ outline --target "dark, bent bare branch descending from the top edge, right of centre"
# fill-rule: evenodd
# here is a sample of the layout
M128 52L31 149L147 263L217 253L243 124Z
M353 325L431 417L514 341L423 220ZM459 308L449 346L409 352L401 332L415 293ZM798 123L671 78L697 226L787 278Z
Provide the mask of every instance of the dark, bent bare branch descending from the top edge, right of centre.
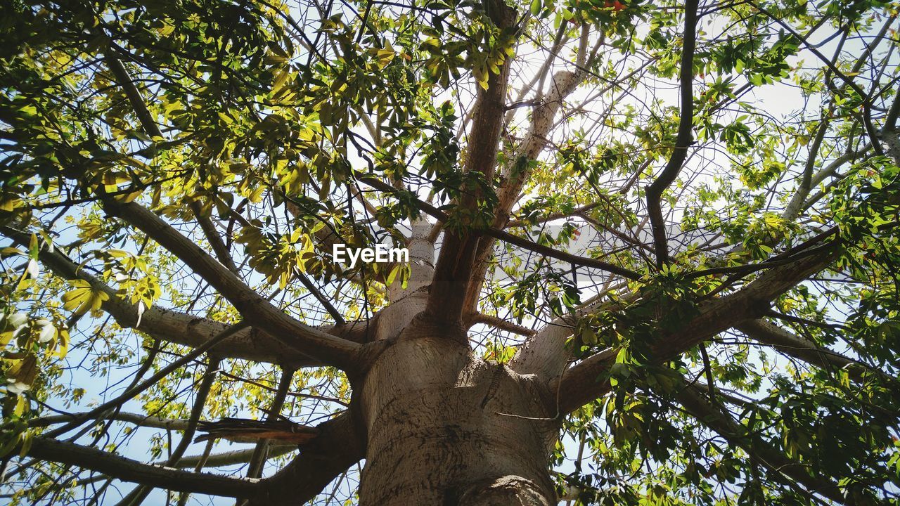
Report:
M650 215L650 228L653 230L653 244L656 248L656 263L662 267L669 261L669 246L666 237L666 224L662 217L662 192L678 177L684 160L688 157L688 148L693 142L691 127L694 122L694 50L697 46L697 9L698 0L685 2L684 42L681 46L681 113L678 136L675 148L672 149L669 163L662 169L659 177L647 187L647 213Z

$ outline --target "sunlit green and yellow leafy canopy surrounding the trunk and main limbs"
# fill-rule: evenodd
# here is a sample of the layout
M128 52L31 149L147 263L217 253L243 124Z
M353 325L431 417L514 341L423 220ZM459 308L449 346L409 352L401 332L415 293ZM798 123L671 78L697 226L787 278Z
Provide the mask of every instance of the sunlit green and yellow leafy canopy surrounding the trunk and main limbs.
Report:
M500 242L477 309L508 325L470 330L475 351L500 362L521 343L513 322L564 321L574 360L616 350L598 380L610 394L566 417L550 463L572 504L826 501L761 463L754 445L840 483L848 501L896 501L896 5L700 3L694 141L662 194L671 262L659 265L645 190L684 148L685 104L671 92L684 3L508 4L5 3L0 455L13 458L11 501L88 502L88 471L14 457L51 433L34 420L106 400L87 378L137 384L195 346L142 326L149 314L241 319L210 279L114 218L116 203L153 210L257 298L309 325L363 321L392 302L392 287L416 281L414 266L337 265L332 244L399 246L436 212L445 238L505 228L627 269L633 279ZM498 27L500 6L518 9L520 24ZM579 86L528 155L561 70L577 71ZM504 71L500 150L466 171L474 104ZM509 221L495 221L499 190L518 178ZM826 239L834 261L759 316L865 372L798 362L734 330L672 360L654 355L705 304L821 253ZM55 252L72 266L46 259ZM116 307L127 317L111 317ZM265 416L290 367L225 358L203 417ZM202 364L179 368L129 410L186 419L202 374ZM685 379L707 383L704 395L751 443L684 409ZM281 414L297 420L351 402L334 367L303 366L290 390ZM78 440L144 458L133 448L145 434L148 455L165 459L174 445L164 430L96 420ZM331 492L352 501L341 486Z

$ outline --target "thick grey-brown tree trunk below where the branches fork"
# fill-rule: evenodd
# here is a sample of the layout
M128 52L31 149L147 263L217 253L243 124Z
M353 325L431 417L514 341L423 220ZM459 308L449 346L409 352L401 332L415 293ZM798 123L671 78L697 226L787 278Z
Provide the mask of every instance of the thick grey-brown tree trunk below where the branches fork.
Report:
M556 503L557 437L534 376L473 357L464 330L414 318L362 385L363 506Z

